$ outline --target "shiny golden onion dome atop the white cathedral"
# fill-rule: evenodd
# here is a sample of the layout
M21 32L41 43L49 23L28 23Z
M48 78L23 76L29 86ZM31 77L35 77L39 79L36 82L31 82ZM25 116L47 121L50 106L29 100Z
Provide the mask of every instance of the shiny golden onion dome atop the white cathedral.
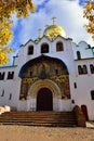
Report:
M59 25L50 25L45 28L43 35L50 39L54 39L57 36L62 36L66 38L65 30L62 26Z

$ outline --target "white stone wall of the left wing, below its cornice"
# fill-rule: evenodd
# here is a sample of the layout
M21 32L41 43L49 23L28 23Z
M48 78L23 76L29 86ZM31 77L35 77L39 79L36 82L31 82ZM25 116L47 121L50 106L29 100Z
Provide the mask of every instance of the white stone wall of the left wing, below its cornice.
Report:
M21 90L21 79L15 77L15 69L16 67L0 68L0 72L5 73L4 79L0 80L0 105L17 106ZM14 72L13 79L8 79L9 72ZM2 97L3 90L4 95ZM12 94L11 100L10 94Z

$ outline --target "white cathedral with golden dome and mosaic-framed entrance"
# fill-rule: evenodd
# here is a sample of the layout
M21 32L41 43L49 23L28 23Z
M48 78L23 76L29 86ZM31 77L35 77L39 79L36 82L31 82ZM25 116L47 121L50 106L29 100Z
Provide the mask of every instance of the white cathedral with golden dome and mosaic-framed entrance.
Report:
M79 105L94 120L94 48L78 44L61 25L22 44L13 65L0 67L0 106L70 112Z

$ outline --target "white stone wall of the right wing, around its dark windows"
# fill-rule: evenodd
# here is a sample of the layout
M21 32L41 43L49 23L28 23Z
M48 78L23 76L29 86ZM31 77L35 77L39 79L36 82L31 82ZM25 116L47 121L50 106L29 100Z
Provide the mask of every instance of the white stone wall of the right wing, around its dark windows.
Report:
M91 91L94 90L94 74L91 74L90 70L90 64L94 62L94 59L92 60L83 60L83 61L77 61L77 76L75 79L75 82L77 82L77 88L73 88L72 92L72 99L75 100L75 103L79 106L86 105L88 106L88 113L89 118L94 119L94 100L91 100ZM88 74L78 74L78 65L86 65L88 67Z

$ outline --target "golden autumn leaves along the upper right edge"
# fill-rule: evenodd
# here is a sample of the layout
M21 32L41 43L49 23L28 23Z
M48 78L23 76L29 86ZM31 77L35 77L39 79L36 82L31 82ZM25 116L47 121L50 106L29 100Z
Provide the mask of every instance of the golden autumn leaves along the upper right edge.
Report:
M86 17L89 23L85 25L86 31L92 35L94 40L94 1L90 1L84 5L83 17Z

